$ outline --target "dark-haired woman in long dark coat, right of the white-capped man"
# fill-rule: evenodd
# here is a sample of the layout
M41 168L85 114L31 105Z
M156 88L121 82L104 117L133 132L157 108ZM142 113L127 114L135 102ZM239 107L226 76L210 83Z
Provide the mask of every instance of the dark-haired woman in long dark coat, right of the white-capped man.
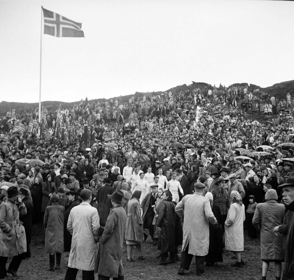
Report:
M157 227L159 228L158 246L161 248L160 265L166 265L168 252L171 263L175 262L176 257L176 212L173 195L166 190L162 195L162 201L159 207Z

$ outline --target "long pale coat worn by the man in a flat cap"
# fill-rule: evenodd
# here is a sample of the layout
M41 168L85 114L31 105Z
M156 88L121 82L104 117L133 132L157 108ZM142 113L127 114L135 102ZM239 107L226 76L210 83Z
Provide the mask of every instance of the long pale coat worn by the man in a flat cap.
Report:
M184 216L182 251L189 244L188 254L206 256L209 248L208 221L212 224L217 222L208 198L199 193L185 195L175 211L180 218Z

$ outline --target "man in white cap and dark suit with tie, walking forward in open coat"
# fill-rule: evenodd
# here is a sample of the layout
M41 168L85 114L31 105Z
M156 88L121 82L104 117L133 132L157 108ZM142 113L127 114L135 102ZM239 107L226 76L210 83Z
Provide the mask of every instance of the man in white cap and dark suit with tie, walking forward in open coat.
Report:
M153 245L156 245L157 240L153 239L154 225L152 225L152 222L155 216L154 205L158 197L158 191L157 191L158 185L151 184L150 188L151 188L151 193L147 193L147 195L145 196L145 198L143 199L141 203L141 208L143 210L142 220L144 225L143 227L148 228L149 230L150 236L153 240Z

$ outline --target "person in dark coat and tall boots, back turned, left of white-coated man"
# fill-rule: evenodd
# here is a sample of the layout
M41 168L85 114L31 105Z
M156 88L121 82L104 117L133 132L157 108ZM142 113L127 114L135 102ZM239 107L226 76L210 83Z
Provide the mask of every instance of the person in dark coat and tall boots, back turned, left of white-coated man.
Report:
M49 254L48 271L54 271L54 269L60 269L61 252L64 251L64 206L59 205L59 196L56 193L51 195L50 204L46 207L44 215L45 253ZM56 266L54 267L55 254Z

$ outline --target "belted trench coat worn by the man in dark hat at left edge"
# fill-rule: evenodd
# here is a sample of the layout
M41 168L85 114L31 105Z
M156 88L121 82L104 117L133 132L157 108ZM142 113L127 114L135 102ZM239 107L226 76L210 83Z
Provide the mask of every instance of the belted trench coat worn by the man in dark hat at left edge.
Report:
M26 215L26 206L6 200L0 205L0 256L12 257L26 252L26 233L19 213Z

